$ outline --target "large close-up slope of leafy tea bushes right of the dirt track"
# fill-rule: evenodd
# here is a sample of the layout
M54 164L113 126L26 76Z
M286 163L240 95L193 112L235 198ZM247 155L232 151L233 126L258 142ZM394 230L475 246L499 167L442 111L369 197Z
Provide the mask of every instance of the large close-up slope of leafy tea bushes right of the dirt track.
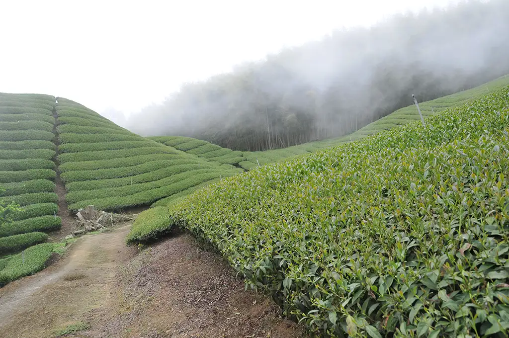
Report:
M507 336L509 87L426 122L212 183L128 241L185 228L312 332Z

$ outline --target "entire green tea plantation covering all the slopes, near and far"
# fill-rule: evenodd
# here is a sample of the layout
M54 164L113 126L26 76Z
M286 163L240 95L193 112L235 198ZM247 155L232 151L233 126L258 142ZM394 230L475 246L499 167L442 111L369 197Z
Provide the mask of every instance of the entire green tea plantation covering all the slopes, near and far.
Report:
M411 106L266 152L145 138L71 100L0 94L0 200L21 208L0 224L0 286L58 247L61 179L70 211L152 205L128 243L187 229L312 332L507 335L508 82L421 103L425 128Z

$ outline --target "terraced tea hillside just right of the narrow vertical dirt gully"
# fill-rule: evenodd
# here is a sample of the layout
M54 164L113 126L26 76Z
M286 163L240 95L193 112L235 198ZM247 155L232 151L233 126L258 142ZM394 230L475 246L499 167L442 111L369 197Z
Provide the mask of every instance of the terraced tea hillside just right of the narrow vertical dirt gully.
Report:
M70 210L150 205L240 171L131 133L76 102L57 100L59 169Z

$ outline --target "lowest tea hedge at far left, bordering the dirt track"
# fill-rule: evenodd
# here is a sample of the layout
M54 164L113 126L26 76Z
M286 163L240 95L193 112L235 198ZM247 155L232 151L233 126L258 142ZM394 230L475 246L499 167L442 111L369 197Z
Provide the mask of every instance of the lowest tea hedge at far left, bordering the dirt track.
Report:
M53 246L53 243L42 243L27 248L23 254L24 263L21 253L9 259L6 266L0 270L0 286L44 269L53 252Z

